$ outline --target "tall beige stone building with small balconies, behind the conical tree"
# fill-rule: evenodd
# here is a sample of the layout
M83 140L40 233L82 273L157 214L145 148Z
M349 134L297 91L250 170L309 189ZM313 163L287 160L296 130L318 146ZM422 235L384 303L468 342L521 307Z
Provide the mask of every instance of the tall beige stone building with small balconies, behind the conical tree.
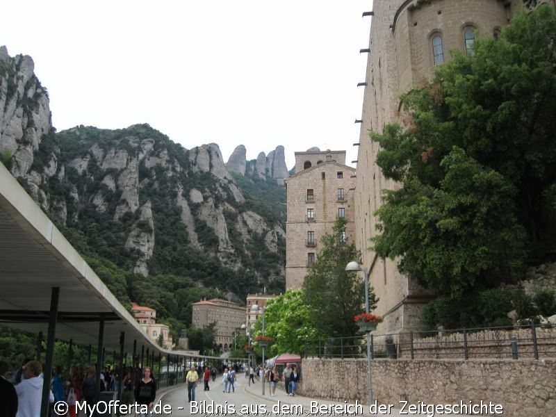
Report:
M295 172L286 184L286 289L300 289L317 259L320 239L336 218L347 220L345 239L354 239L355 170L345 151L295 152Z

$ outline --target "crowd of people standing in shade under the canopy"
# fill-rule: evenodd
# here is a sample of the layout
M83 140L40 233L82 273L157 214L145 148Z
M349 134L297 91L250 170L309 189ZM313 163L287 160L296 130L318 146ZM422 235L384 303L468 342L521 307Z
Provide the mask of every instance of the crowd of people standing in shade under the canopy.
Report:
M42 363L26 359L22 366L15 370L11 380L4 377L7 371L8 363L0 361L0 417L15 417L16 414L17 417L39 416L44 382ZM112 373L109 371L110 368L106 367L104 373L97 375L96 366L91 364L81 377L79 368L72 366L64 382L61 367L54 366L49 392L51 407L54 407L58 401L64 401L70 406L67 416L75 417L76 402L85 401L92 405L99 400L100 391L106 389L117 391L120 375L117 369ZM100 389L97 387L97 377L100 379ZM151 368L146 367L141 370L137 365L134 370L131 366L128 367L122 388L124 391L122 400L128 404L137 402L146 404L149 409L153 407L156 398L156 384ZM129 394L125 395L126 393ZM58 415L54 413L53 409L49 414L51 416Z

